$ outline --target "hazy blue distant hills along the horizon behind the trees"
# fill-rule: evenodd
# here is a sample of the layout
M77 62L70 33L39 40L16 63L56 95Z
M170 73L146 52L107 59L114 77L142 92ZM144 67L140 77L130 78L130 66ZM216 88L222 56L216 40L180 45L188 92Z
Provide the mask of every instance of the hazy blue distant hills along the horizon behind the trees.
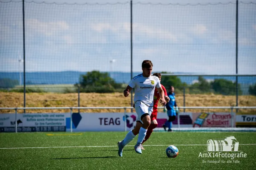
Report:
M60 72L27 72L26 73L26 84L75 84L79 82L79 77L87 72L79 71L60 71ZM141 72L134 72L132 77L141 74ZM174 73L174 74L185 74L185 73ZM19 81L19 72L0 72L0 79L9 78ZM125 72L110 72L110 76L115 79L118 83L129 83L131 79L130 73ZM21 74L23 84L23 73ZM192 84L196 82L198 77L179 77L182 82ZM204 77L211 81L213 79L228 79L235 82L235 77ZM256 83L256 77L238 77L238 83L241 84L243 94L248 93L249 85Z

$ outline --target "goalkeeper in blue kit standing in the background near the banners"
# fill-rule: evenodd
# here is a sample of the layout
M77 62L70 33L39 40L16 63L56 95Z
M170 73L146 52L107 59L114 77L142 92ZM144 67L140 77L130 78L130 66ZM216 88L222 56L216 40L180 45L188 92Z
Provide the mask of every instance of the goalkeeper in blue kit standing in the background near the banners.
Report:
M164 129L166 130L166 127L168 127L168 131L171 130L172 122L176 118L176 113L179 112L178 106L175 101L175 94L174 94L174 86L170 87L170 92L168 92L168 97L170 98L170 101L166 104L167 114L169 119L165 122L163 125ZM174 109L175 106L175 109Z

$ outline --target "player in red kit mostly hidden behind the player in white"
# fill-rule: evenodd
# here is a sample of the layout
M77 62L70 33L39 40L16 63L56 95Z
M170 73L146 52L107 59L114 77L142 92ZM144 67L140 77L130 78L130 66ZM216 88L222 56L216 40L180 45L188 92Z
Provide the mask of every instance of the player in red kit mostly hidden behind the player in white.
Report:
M153 75L158 77L159 80L161 81L161 73L154 73ZM167 91L166 91L166 89L165 89L165 87L163 85L162 85L162 89L165 92L165 101L169 102L170 98L168 97ZM158 105L159 99L160 99L160 95L159 95L158 91L155 90L153 112L151 113L151 116L150 116L151 123L150 123L150 126L147 129L147 133L146 133L146 136L145 136L142 144L147 141L147 139L150 137L151 133L153 132L153 129L156 128L157 125L158 125L158 123L156 121L156 117L157 117L157 105ZM141 145L141 149L144 150L144 147L142 145Z

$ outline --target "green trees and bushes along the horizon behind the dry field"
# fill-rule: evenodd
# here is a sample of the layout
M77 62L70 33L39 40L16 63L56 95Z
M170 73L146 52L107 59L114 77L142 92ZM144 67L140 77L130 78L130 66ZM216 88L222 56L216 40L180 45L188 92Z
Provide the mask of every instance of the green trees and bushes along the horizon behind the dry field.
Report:
M18 83L18 80L6 78L0 79L0 89L14 88ZM167 89L171 85L174 86L176 93L182 93L183 88L185 87L186 93L189 94L236 94L236 83L227 79L214 79L212 81L207 81L202 76L199 76L197 82L188 85L187 83L182 82L178 76L162 76L161 84ZM115 82L115 80L110 77L109 73L100 71L91 71L87 72L87 74L80 75L79 82L75 84L77 91L79 89L80 92L84 93L122 92L126 86L127 84ZM71 93L74 91L68 92ZM256 83L254 85L250 85L248 92L250 95L256 96ZM243 92L241 90L241 85L238 83L238 95L241 94L243 94Z

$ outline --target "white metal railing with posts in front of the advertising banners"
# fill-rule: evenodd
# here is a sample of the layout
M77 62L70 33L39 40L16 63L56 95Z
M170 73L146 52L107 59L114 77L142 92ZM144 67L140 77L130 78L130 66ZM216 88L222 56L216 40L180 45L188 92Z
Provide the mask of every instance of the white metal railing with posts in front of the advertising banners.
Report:
M159 107L159 108L164 108L164 107ZM233 119L235 117L235 113L233 112L233 109L256 109L256 106L219 106L219 107L197 107L197 106L192 106L192 107L179 107L180 109L230 109L231 111L231 117L232 117L232 127L234 127L234 123L233 123ZM31 108L0 108L0 110L15 110L15 122L17 122L17 114L18 114L18 110L19 109L70 109L70 123L71 123L71 133L73 132L72 130L72 110L73 109L124 109L124 116L126 116L127 113L127 109L132 109L132 107L49 107L49 108L45 108L45 107L31 107ZM9 113L12 114L12 113ZM23 114L23 113L21 113ZM30 114L30 113L27 113ZM213 114L213 113L209 113L209 114ZM180 128L179 125L179 114L177 116L178 119L178 128ZM124 131L127 131L127 127L126 127L126 119L124 119ZM17 123L15 123L15 132L18 133L18 127L17 127Z

